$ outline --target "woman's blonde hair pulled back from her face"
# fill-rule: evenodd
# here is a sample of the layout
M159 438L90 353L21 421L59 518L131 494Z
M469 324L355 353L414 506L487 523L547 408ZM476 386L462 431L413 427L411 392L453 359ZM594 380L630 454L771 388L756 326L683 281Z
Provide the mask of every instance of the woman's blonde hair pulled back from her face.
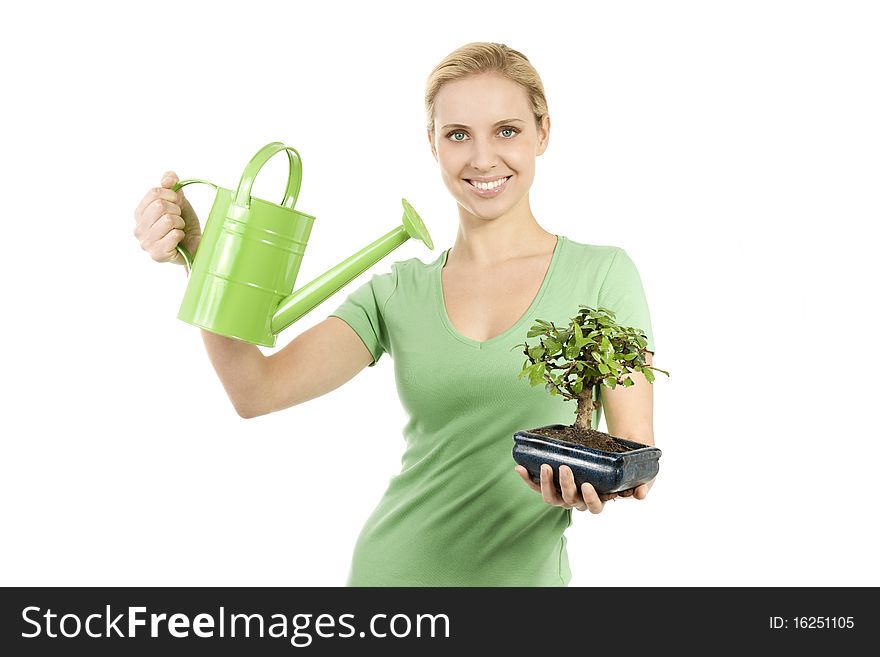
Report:
M526 90L535 124L540 130L541 119L547 114L547 99L538 71L525 55L503 43L475 41L446 55L428 76L425 89L428 131L434 132L434 99L440 87L452 80L489 72L500 73Z

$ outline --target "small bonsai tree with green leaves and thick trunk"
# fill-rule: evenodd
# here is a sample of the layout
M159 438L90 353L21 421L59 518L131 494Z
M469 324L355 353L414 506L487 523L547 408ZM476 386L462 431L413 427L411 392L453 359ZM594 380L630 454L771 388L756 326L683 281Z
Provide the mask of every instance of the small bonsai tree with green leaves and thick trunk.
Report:
M566 401L577 400L575 432L592 431L593 410L599 402L593 399L593 388L604 385L635 385L629 377L641 372L649 383L654 382L651 370L669 372L648 365L645 352L648 338L640 328L618 326L614 312L608 308L581 305L580 312L565 328L553 322L535 320L526 337L541 336L538 344L523 347L526 361L519 378L528 375L533 386L545 382L551 395L562 395Z

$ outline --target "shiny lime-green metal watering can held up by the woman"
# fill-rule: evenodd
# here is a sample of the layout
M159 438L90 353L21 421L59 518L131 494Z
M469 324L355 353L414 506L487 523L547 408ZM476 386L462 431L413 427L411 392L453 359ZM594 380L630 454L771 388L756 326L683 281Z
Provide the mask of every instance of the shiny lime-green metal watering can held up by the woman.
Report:
M254 179L269 158L282 151L290 161L290 175L281 205L254 198ZM293 209L301 180L302 161L296 149L272 142L248 162L236 191L197 178L174 185L174 191L196 182L217 190L195 258L183 245L177 247L189 272L178 319L212 333L274 347L278 333L410 237L434 248L421 218L402 199L402 225L291 293L315 221Z

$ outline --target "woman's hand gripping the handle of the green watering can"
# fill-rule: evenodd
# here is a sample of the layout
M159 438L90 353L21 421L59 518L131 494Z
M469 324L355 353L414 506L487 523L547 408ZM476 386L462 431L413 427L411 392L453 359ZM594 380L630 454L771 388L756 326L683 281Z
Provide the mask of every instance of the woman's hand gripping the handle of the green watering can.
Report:
M183 190L174 191L177 174L168 171L159 187L148 191L134 211L134 236L141 248L156 262L184 264L177 251L181 242L195 254L202 238L202 229L195 210Z

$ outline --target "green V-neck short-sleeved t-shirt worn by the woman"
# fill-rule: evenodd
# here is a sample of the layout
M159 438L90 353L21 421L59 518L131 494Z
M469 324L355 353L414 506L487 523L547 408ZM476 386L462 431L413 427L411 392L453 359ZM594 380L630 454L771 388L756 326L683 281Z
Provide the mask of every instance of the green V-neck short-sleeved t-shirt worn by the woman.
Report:
M393 359L409 418L400 473L358 537L347 584L567 586L571 511L529 489L511 452L517 430L573 424L576 406L519 379L525 357L513 346L527 340L535 319L568 326L584 304L610 308L619 324L643 329L653 352L641 279L623 249L557 236L529 309L501 335L478 342L460 335L446 314L440 270L448 253L430 264L395 262L331 313L361 337L371 367L383 353Z

